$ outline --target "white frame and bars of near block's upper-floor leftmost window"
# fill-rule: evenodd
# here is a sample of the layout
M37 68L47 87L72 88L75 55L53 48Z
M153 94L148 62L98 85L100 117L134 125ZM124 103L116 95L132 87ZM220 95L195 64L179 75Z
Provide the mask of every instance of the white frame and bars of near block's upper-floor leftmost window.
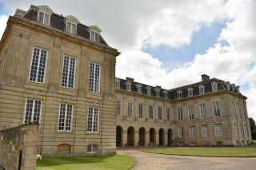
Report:
M31 74L31 67L32 67L32 62L33 62L33 57L34 57L34 49L39 49L39 56L38 56L38 65L37 65L37 73L36 73L36 81L30 81L30 74ZM45 50L46 51L46 64L45 64L45 70L44 70L44 76L43 76L43 80L42 82L38 81L38 75L39 75L39 65L40 65L40 61L41 61L41 53L42 53L42 50ZM33 47L33 50L32 50L32 56L31 56L31 61L30 61L30 74L29 74L29 81L30 82L33 82L33 83L38 83L38 84L45 84L45 81L46 81L46 69L47 69L47 59L48 59L48 50L47 49L42 49L38 46L34 46Z

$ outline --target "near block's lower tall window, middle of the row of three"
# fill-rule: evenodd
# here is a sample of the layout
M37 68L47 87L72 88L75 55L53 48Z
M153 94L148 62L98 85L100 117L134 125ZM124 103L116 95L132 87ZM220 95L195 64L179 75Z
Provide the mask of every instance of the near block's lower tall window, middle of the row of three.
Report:
M71 131L73 105L61 103L58 116L58 131Z

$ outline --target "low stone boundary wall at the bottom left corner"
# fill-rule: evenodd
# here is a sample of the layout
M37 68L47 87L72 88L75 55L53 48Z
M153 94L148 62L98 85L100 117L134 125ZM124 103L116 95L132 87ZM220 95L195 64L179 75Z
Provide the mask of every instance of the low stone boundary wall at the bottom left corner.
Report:
M0 131L0 167L19 169L20 164L20 169L35 169L38 128L30 123Z

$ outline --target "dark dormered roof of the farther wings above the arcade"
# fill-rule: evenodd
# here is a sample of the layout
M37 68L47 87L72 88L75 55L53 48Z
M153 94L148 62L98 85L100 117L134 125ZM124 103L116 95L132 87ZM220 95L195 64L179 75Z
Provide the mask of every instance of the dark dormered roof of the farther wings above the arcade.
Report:
M120 89L126 90L126 80L121 79L121 78L117 78L120 80ZM191 84L191 85L184 85L175 89L168 89L168 99L171 100L175 100L178 99L178 90L182 91L182 98L188 97L188 88L192 88L193 89L193 96L198 96L199 95L199 85L204 85L205 87L205 94L206 93L213 93L212 91L212 86L211 83L216 82L218 83L218 91L223 91L223 90L228 90L228 87L225 83L225 81L219 80L217 78L212 78L209 79L208 81L199 81L197 83ZM131 91L134 93L138 93L137 91L137 84L141 84L142 85L142 94L147 95L147 91L146 91L146 87L150 86L150 85L144 85L142 83L138 83L135 81L131 81ZM233 85L234 86L234 85ZM156 93L155 93L155 88L154 86L150 86L151 89L151 96L156 97ZM160 97L165 98L165 95L163 93L163 91L165 91L166 89L161 89L161 93L160 93ZM239 93L238 90L236 88L232 88L232 85L230 85L230 91L234 92L234 93Z

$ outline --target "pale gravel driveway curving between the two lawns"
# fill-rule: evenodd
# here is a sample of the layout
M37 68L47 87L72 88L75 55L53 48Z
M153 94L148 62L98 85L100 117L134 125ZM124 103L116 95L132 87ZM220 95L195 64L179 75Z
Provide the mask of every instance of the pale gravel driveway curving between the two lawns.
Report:
M134 157L134 170L256 170L256 158L171 156L146 153L140 149L119 149L117 153Z

